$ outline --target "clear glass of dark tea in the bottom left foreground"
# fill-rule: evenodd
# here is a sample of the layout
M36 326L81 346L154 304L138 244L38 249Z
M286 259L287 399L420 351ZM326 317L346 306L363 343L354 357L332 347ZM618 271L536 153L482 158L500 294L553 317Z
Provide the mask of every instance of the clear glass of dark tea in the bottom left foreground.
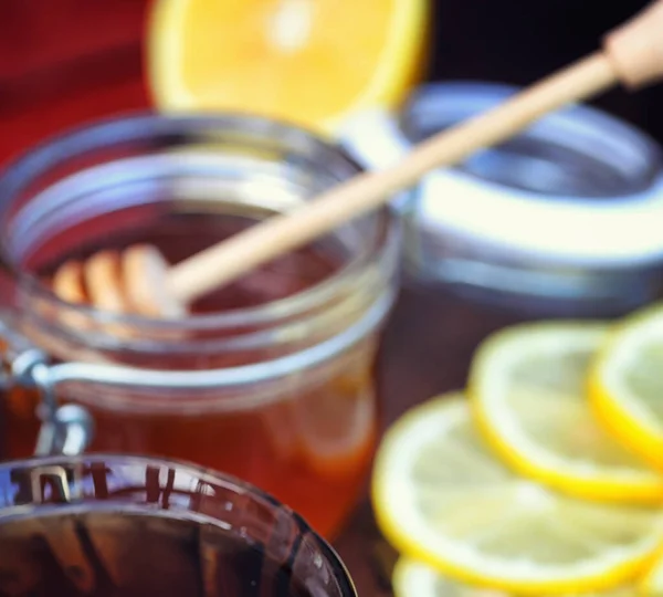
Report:
M356 597L328 544L270 495L117 455L0 465L0 595Z

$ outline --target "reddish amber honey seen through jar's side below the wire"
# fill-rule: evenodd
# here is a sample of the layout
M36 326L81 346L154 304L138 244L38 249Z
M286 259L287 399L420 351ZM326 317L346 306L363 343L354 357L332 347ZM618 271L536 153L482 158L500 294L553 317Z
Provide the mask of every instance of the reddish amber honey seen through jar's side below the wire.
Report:
M238 475L301 512L323 535L334 536L362 489L377 423L375 397L361 397L359 387L348 391L334 386L294 392L284 402L245 413L149 416L92 406L92 450L183 459ZM20 389L9 396L11 458L34 449L35 398ZM355 425L361 427L354 430Z

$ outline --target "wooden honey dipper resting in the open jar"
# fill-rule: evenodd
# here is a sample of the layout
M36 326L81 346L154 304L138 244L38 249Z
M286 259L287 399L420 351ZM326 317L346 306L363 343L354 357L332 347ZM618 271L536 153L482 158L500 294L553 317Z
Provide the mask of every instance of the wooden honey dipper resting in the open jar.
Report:
M537 118L615 83L636 90L663 78L663 0L610 32L596 52L544 78L502 105L421 143L399 164L361 174L305 206L272 217L170 266L150 245L101 251L69 262L53 290L73 303L115 313L179 317L208 292L386 203L428 171L461 161L520 132ZM461 199L462 200L462 199Z

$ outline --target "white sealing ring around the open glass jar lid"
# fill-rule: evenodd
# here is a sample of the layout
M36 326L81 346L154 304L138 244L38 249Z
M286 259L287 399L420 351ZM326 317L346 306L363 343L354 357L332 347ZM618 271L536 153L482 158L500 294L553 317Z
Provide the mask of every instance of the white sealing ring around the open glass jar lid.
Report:
M412 147L397 117L383 109L356 114L340 139L373 169L396 163ZM441 201L441 196L451 199ZM415 205L401 201L396 208L427 234L460 235L514 259L623 268L663 258L663 174L646 190L609 202L557 199L543 201L444 169L421 181Z

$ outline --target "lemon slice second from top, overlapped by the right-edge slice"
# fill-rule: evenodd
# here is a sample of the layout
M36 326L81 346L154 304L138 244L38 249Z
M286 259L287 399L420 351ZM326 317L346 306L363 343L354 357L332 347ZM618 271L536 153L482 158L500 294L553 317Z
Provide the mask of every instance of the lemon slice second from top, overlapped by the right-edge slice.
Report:
M596 421L586 395L608 329L550 322L494 334L472 363L473 412L491 448L522 474L579 498L660 502L663 475Z

